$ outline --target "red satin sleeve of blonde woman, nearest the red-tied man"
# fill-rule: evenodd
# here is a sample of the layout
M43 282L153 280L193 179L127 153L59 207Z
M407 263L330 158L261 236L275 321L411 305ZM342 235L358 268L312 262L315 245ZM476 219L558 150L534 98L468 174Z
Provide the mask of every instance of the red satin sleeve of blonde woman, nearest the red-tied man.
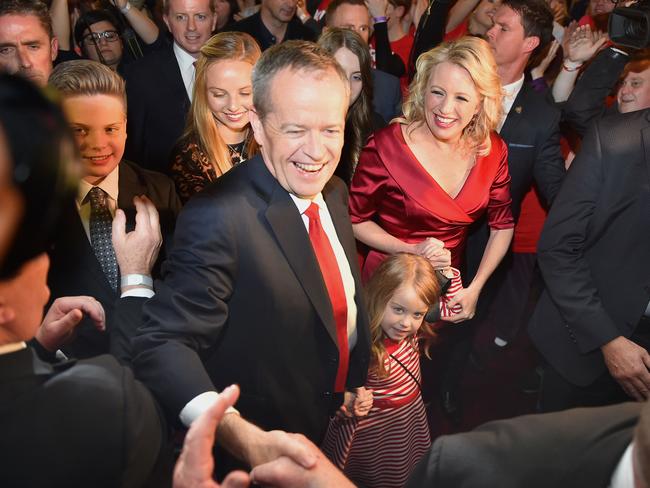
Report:
M375 139L371 138L359 156L350 185L350 220L353 224L372 219L385 194L388 173L381 161Z

